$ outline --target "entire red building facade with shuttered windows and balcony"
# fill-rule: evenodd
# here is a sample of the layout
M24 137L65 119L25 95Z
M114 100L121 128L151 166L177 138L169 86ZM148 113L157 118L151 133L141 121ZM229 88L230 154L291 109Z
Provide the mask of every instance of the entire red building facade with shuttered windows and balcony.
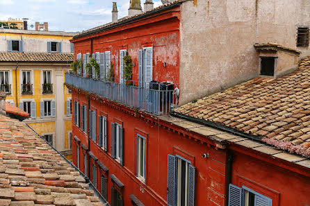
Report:
M152 97L153 90L143 83L157 80L178 87L180 5L74 37L76 58L87 61L93 54L101 65L101 80L88 78L83 70L78 76L66 74L72 89L74 164L113 206L309 204L310 164L295 163L306 158L271 157L282 151L195 119L158 115L168 114L176 97L168 98L169 92ZM123 55L131 56L136 87L124 85ZM113 83L103 71L111 65Z

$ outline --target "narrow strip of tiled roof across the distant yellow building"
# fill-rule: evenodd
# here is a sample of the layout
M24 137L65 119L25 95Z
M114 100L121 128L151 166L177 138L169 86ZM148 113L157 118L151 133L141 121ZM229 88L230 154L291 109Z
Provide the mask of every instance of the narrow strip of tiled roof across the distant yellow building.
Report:
M72 62L72 53L0 52L0 62Z

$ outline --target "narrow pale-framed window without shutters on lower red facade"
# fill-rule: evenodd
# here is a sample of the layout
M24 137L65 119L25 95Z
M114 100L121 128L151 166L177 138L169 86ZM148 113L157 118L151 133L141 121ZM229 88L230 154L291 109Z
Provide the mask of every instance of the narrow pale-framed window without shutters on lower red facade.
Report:
M146 144L145 137L138 135L137 137L137 177L145 181L146 170Z

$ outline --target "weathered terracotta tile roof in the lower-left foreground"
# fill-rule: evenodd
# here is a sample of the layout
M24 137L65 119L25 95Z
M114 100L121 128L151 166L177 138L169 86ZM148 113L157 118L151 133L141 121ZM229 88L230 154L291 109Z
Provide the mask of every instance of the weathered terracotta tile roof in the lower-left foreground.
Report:
M0 205L103 205L24 122L1 116L0 130Z

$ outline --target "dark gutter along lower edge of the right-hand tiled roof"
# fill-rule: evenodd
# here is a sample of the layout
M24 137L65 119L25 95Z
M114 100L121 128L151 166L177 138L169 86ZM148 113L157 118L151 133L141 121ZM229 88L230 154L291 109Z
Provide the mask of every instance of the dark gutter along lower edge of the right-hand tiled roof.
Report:
M214 123L212 121L206 121L204 119L197 119L197 118L190 117L188 115L180 114L180 113L177 113L177 112L171 112L170 115L174 116L174 117L181 118L181 119L186 119L188 121L193 121L195 123L200 123L200 124L203 124L205 126L209 126L211 128L215 128L215 129L218 129L218 130L229 132L229 133L231 133L233 135L237 135L237 136L240 136L240 137L244 137L244 138L247 138L247 139L252 139L254 141L259 141L261 143L264 143L261 140L261 137L258 137L258 136L255 136L255 135L250 135L250 134L247 134L245 132L240 132L239 130L236 130L234 128L230 128L228 126L221 125L219 123Z

